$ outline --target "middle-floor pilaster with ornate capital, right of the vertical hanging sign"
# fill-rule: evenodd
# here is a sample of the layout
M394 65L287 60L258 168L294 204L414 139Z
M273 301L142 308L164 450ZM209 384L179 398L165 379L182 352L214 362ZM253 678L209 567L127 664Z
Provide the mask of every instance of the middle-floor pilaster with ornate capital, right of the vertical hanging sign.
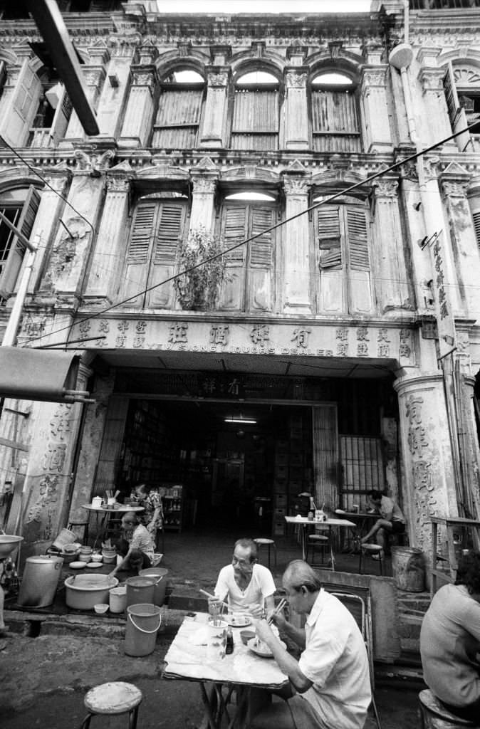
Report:
M467 199L469 179L470 175L466 171L461 176L449 175L446 171L440 176L440 185L449 219L459 303L463 308L460 313L469 319L478 319L480 316L478 294L480 260L471 208Z

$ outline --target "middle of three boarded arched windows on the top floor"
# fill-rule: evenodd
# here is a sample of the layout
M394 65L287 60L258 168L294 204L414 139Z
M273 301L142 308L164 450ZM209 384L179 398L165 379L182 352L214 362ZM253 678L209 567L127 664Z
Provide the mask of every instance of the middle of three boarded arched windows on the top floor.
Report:
M279 81L265 71L236 80L233 90L232 149L279 147Z

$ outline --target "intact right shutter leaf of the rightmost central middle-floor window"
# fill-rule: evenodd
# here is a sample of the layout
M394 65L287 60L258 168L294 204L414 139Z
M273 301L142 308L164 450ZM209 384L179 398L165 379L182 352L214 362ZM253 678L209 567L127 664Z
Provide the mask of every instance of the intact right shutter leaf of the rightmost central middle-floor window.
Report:
M370 255L368 252L368 229L365 211L347 207L345 233L348 250L348 311L367 314L372 311Z

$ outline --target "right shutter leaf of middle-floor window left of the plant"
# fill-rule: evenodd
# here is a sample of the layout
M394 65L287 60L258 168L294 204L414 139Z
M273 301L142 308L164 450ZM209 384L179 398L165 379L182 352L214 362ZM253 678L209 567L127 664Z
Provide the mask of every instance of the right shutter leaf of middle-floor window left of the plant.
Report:
M186 208L183 202L164 201L158 213L148 287L171 278L177 262L179 240L184 233ZM171 281L147 292L146 305L155 308L174 308L174 292Z

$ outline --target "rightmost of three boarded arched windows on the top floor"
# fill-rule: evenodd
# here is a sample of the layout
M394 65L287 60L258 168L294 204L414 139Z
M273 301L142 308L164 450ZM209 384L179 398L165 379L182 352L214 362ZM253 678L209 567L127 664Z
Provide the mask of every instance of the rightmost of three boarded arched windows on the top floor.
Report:
M311 133L315 152L360 152L355 84L346 74L325 72L311 81Z

